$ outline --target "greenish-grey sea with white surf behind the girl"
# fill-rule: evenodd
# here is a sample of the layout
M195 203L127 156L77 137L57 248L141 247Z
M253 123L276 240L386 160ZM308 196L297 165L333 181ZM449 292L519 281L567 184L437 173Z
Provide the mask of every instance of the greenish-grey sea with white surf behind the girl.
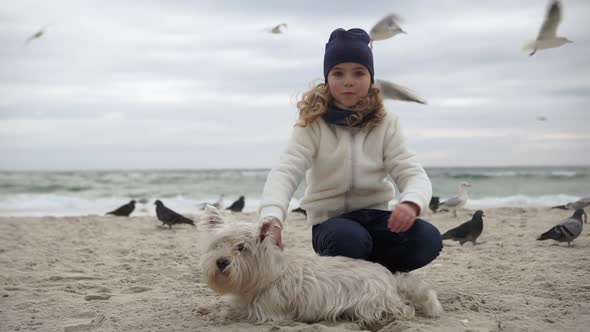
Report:
M256 211L269 169L0 172L1 216L103 215L134 199L133 215L155 215L160 199L178 212L199 214L220 195L229 206L245 197ZM433 195L455 195L471 183L466 208L548 207L590 196L590 166L426 168ZM291 201L299 205L305 180ZM396 200L392 200L395 204Z

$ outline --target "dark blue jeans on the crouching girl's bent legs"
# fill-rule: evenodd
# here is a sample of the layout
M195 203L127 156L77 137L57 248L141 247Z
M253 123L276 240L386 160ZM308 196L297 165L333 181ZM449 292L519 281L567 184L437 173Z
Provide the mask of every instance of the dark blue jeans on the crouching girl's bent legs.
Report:
M391 272L425 266L442 250L440 232L416 219L403 233L387 228L391 211L362 209L330 218L312 227L313 249L320 256L347 256L379 263Z

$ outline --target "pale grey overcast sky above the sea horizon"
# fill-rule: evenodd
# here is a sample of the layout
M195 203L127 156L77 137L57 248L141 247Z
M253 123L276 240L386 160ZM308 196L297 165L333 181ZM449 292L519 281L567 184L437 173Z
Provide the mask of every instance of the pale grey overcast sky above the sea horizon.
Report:
M425 166L589 165L590 1L529 57L547 4L4 0L0 169L272 167L330 32L392 12L375 76L428 101L386 102Z

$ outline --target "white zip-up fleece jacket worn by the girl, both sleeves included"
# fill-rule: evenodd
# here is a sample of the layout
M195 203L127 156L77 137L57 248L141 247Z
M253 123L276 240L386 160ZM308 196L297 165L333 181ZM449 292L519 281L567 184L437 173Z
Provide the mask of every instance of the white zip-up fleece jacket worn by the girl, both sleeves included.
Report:
M312 225L353 210L387 210L394 197L388 175L401 192L399 201L415 203L420 212L432 196L428 175L407 149L398 117L392 113L371 130L356 133L322 118L304 128L296 126L287 150L266 179L260 218L284 221L308 170L301 208Z

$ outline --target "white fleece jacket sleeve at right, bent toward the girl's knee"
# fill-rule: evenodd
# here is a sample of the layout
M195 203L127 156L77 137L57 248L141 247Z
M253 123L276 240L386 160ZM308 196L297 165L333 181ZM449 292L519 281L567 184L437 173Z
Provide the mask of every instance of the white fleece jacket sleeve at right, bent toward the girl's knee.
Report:
M415 154L408 150L399 118L391 113L386 118L389 119L383 144L385 169L400 191L399 201L416 204L421 215L432 198L432 184Z

